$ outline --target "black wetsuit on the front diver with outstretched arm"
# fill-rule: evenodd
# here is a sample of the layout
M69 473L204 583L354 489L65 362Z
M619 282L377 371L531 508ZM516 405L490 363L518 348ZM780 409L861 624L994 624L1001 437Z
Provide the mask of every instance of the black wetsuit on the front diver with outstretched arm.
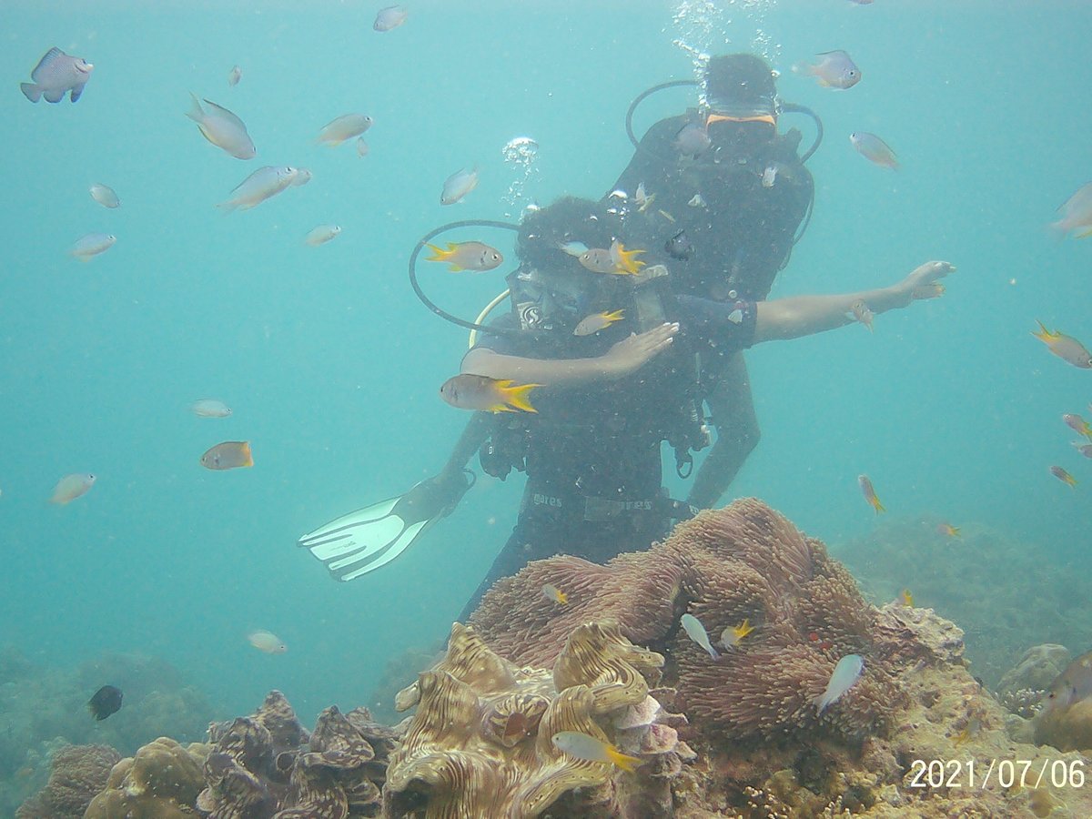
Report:
M530 560L563 553L606 562L648 548L669 529L663 495L661 441L678 429L695 384L695 354L735 352L751 344L755 305L680 297L669 318L680 324L672 349L632 376L581 388L535 390L536 414L495 416L495 439L519 440L527 473L511 537L466 604L477 607L498 579ZM498 325L512 327L511 317ZM483 335L477 346L526 358L589 358L606 353L634 330L620 321L592 336Z

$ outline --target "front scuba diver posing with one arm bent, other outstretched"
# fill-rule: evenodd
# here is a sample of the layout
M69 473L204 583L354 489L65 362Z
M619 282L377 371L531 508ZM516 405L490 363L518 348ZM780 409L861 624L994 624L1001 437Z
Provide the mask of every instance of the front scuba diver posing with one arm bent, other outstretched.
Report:
M702 446L695 387L704 360L844 327L856 301L873 312L906 307L916 288L952 270L927 262L890 287L836 296L715 300L677 293L663 265L634 275L593 273L561 249L573 241L626 245L624 229L586 200L563 199L529 215L518 242L521 266L509 276L512 311L463 358L463 373L541 387L532 395L535 413L494 416L490 440L510 441L510 465L527 483L515 529L462 621L494 582L530 560L565 553L605 562L648 548L673 519L692 514L664 495L661 443L673 443L677 461L679 450ZM598 332L573 332L589 317L618 310L622 319Z

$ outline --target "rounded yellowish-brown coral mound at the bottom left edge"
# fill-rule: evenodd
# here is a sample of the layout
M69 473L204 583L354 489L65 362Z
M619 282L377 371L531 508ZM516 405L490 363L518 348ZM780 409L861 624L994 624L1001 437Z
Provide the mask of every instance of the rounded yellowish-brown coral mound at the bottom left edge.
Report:
M194 743L183 748L159 737L126 757L110 771L106 788L87 806L84 819L185 819L204 785L201 764L209 752Z

